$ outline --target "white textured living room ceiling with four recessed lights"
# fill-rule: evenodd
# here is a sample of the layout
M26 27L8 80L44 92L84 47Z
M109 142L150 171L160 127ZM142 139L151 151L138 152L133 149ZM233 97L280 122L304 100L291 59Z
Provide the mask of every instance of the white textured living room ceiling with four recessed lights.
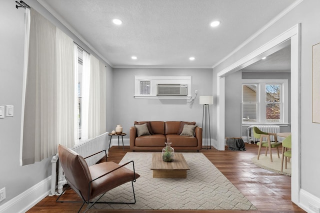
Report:
M295 0L38 1L112 67L211 68Z

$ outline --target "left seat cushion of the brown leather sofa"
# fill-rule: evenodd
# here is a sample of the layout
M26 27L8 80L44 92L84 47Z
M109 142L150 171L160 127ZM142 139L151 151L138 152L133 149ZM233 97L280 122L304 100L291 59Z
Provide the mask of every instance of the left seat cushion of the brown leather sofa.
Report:
M135 138L134 145L137 147L165 147L165 136L143 135Z

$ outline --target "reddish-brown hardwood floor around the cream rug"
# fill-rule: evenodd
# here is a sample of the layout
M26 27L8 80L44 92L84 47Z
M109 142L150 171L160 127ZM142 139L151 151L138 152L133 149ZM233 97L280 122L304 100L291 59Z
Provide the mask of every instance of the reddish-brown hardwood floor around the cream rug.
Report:
M255 144L245 144L246 151L217 151L202 149L202 152L223 175L258 209L258 211L164 211L164 210L89 210L88 213L121 212L121 213L304 213L291 202L291 177L278 175L261 169L251 163L257 154ZM108 161L119 163L129 147L111 147ZM79 200L72 190L68 190L63 199ZM76 213L79 203L56 203L56 197L46 197L27 213ZM137 198L138 199L138 198Z

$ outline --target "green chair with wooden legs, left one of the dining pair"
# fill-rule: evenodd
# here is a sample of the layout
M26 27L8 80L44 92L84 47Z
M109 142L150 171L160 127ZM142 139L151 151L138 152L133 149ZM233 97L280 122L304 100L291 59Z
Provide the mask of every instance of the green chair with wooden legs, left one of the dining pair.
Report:
M280 143L277 142L275 133L262 132L259 128L253 127L253 136L254 136L254 138L260 139L260 141L258 143L256 143L256 145L259 146L257 160L259 160L259 157L260 157L261 147L265 147L265 156L266 156L267 151L269 149L269 155L270 155L271 162L272 162L271 148L276 148L278 158L280 158L280 156L279 156ZM270 141L270 136L274 136L274 142ZM266 138L266 141L263 141L263 138Z

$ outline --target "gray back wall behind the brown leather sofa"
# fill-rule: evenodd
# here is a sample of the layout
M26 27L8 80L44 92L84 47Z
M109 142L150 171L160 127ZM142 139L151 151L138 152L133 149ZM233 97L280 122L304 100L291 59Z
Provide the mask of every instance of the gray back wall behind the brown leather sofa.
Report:
M191 95L194 97L195 90L198 95L193 104L189 100L134 99L135 75L191 76ZM199 96L212 95L212 70L114 68L113 84L113 129L121 124L123 132L128 133L134 121L195 121L201 126L202 105L199 105ZM129 138L129 134L125 138Z

